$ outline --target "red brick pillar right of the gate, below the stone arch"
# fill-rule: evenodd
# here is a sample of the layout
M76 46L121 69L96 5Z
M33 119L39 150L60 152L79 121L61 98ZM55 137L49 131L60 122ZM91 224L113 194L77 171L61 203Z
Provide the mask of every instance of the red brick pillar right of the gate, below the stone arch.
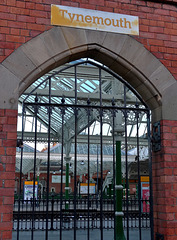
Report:
M177 121L161 121L161 151L153 154L154 232L177 239Z

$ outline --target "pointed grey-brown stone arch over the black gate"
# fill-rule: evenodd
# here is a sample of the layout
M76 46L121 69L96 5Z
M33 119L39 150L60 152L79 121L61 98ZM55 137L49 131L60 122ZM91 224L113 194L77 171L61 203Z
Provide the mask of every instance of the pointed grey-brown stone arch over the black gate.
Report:
M2 62L0 108L16 109L18 97L33 81L81 57L91 57L125 78L153 111L154 121L174 119L176 80L141 43L128 35L68 27L42 33Z

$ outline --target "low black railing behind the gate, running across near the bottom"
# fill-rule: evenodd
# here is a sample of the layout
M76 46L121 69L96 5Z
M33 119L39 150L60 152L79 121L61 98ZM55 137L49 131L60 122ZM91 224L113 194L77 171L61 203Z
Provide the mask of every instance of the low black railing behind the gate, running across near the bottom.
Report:
M44 230L46 229L46 207L47 201L44 199L35 200L15 200L13 212L13 229L17 230ZM102 216L103 228L114 229L114 204L112 199L103 199ZM149 219L149 200L139 201L135 198L130 198L128 205L126 200L123 200L123 226L127 227L127 212L129 219L129 228L139 228L139 202L141 202L141 228L150 228ZM66 208L66 204L69 206ZM62 205L62 214L61 214ZM128 211L127 211L128 206ZM19 209L20 207L20 209ZM88 209L89 218L88 221ZM34 211L33 211L34 210ZM48 201L48 229L58 230L62 226L63 230L74 228L74 200L50 199ZM33 223L32 223L33 222ZM100 200L77 199L76 200L76 228L87 229L88 224L90 229L100 228Z

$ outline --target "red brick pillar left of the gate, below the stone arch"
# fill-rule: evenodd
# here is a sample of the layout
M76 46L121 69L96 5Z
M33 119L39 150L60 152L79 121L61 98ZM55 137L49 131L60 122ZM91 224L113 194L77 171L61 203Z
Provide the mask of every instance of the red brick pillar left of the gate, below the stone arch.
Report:
M0 239L12 239L17 110L0 109Z

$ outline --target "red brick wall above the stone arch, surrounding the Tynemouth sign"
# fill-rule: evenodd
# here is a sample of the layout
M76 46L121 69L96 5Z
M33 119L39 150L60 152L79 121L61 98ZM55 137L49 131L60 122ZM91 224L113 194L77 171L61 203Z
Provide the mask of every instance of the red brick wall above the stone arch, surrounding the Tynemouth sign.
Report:
M177 11L176 6L165 2L177 3L176 0L159 3L142 0L1 0L0 62L21 44L52 27L50 5L53 3L139 16L140 36L136 39L177 78Z

